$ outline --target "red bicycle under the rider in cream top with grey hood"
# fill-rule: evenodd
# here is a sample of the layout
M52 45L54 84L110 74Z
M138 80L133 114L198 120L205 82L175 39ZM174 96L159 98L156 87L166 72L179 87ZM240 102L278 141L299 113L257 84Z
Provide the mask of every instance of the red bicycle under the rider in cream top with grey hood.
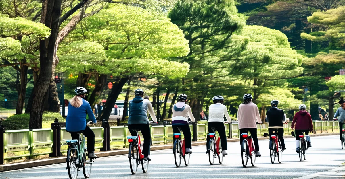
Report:
M175 165L176 167L179 167L181 165L181 160L185 160L185 165L188 166L189 164L189 159L190 159L190 154L186 154L186 139L183 138L181 140L181 128L177 127L177 129L180 131L180 133L174 133L174 149L173 149L173 154L175 157Z

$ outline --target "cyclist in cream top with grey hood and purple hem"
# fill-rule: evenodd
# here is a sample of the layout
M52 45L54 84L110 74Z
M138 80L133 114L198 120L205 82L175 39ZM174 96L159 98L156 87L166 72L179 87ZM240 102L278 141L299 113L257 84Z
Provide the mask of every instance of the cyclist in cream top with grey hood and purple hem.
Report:
M188 117L191 122L195 122L195 118L192 114L192 110L187 102L187 95L180 94L178 96L178 102L172 107L172 130L174 133L180 133L177 127L182 129L186 139L186 154L192 154L192 136L190 134L190 128L188 126ZM174 138L175 141L175 138Z

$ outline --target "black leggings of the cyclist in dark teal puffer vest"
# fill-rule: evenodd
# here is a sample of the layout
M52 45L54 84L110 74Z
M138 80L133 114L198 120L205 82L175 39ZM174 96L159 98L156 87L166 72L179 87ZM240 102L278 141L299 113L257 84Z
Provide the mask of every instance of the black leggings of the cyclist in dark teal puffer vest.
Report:
M128 125L128 130L132 136L137 136L137 132L132 130L132 128L137 128L141 131L142 137L144 137L144 146L142 147L142 154L146 157L150 153L151 147L151 130L149 124L130 124Z

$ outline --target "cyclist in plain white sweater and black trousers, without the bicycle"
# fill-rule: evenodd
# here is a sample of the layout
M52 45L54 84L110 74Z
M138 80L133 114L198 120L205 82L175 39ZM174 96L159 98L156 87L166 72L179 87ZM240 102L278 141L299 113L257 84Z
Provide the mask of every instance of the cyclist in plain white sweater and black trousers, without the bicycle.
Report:
M223 104L224 97L223 96L214 96L212 98L213 104L211 104L208 108L208 131L213 131L212 127L217 128L219 137L220 137L220 143L221 148L223 151L223 155L228 155L226 152L227 150L227 141L226 141L226 134L225 134L225 127L224 123L231 123L231 119L228 113L228 110L226 106ZM227 121L224 121L224 116L226 117ZM206 139L206 149L207 152L209 150L209 141L210 137L207 135Z

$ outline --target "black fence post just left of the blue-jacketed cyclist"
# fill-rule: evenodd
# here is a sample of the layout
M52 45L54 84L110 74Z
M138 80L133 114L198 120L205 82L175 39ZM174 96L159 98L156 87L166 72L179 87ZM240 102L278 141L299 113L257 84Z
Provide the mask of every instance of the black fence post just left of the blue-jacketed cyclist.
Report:
M53 129L53 153L49 154L49 157L60 157L61 154L61 126L59 120L55 119L54 123L51 123Z

